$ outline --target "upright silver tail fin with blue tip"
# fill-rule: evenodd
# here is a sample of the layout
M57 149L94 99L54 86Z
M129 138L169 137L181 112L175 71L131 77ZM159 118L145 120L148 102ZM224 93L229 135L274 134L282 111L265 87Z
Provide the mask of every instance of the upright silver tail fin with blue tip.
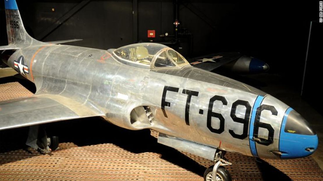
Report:
M7 23L8 46L1 49L19 49L32 44L43 44L32 38L25 30L22 23L16 0L5 0L5 15Z

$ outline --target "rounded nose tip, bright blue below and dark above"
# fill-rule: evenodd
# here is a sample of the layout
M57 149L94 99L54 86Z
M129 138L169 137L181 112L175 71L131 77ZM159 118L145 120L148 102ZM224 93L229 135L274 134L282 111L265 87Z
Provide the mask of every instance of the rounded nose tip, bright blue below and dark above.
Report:
M288 108L280 130L281 158L309 156L318 147L318 136L308 122L292 108Z

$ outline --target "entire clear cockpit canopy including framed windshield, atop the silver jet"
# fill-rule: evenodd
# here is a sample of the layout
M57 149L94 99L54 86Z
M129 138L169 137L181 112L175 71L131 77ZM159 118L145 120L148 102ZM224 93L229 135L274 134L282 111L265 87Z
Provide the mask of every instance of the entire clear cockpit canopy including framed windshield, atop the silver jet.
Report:
M113 51L120 62L150 69L181 68L187 60L172 48L156 43L138 43Z

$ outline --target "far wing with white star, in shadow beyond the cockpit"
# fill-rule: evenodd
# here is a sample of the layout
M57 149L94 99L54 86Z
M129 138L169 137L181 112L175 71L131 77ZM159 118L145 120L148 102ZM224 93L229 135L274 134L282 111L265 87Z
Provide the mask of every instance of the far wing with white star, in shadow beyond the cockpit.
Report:
M191 58L187 61L194 67L201 68L207 71L212 71L224 64L237 60L241 56L242 55L238 52L216 53Z

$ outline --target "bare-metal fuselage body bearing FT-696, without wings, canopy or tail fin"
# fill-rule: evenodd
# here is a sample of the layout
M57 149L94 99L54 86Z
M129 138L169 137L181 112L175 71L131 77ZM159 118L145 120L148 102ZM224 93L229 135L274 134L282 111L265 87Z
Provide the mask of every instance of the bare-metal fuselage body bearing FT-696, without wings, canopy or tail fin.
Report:
M36 94L68 96L94 105L106 120L127 129L151 128L262 158L306 156L310 152L305 148L315 146L297 139L297 152L282 149L283 139L295 141L286 139L294 133L285 133L282 124L286 113L293 111L289 106L251 86L192 66L150 70L121 63L112 50L49 44L19 49L7 64L35 83ZM148 121L141 117L141 108L151 112ZM282 138L282 132L289 135Z

